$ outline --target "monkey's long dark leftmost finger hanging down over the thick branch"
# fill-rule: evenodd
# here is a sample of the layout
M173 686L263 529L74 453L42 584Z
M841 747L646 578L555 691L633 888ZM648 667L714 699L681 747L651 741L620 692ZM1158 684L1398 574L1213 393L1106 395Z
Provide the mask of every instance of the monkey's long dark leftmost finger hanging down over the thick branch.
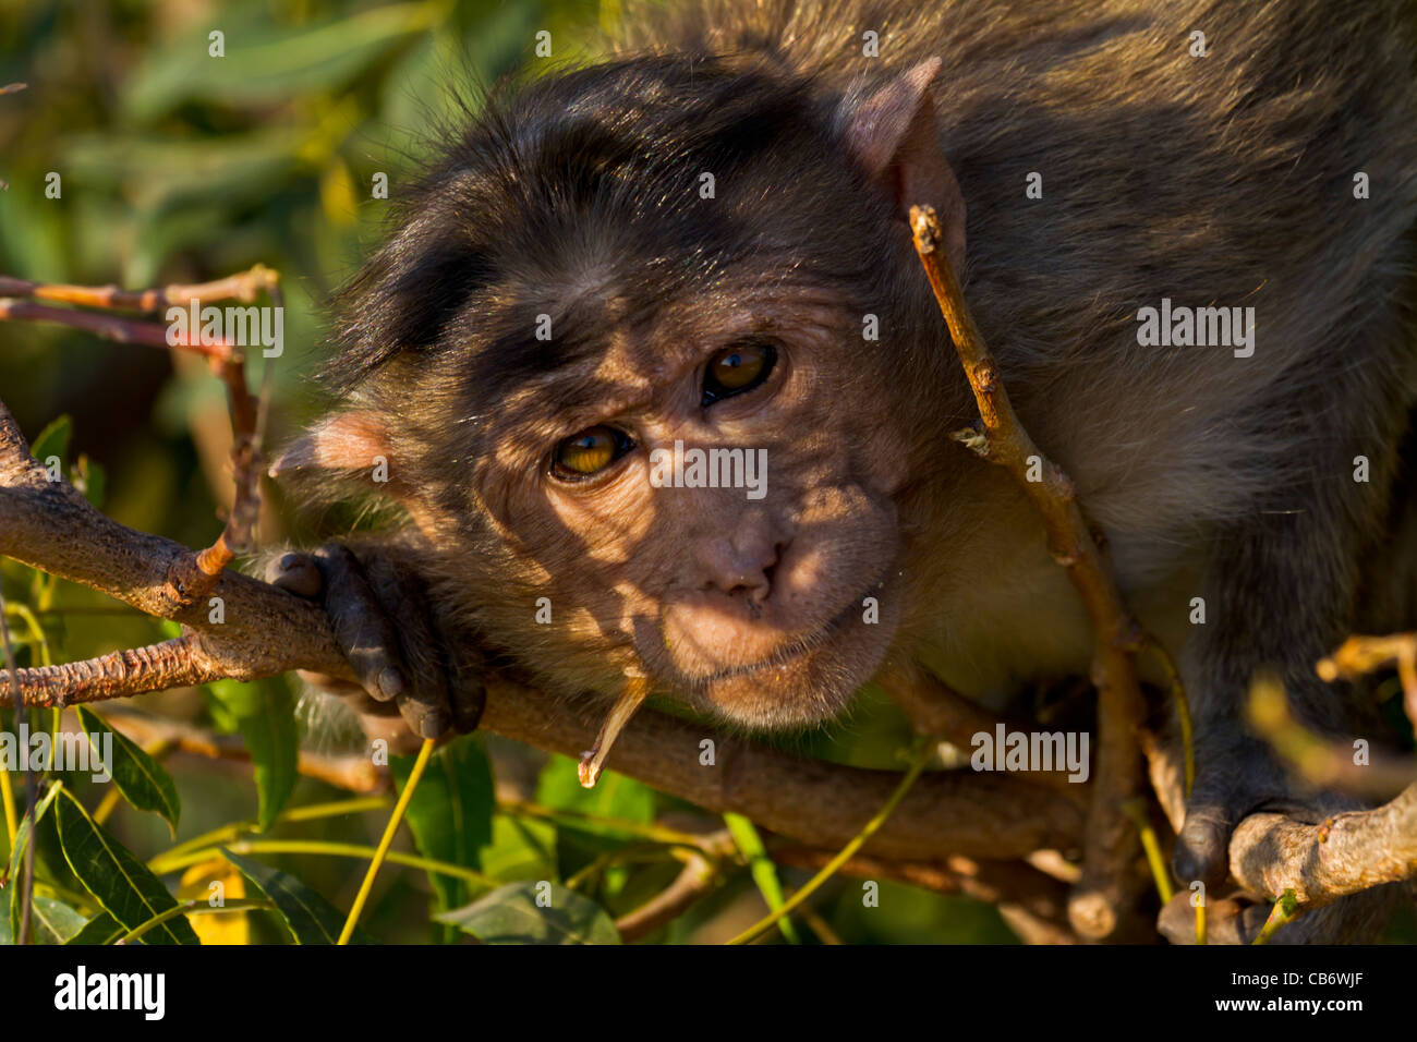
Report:
M346 547L329 543L315 553L315 561L334 639L364 690L378 702L404 695L410 685L398 654L398 635L359 560Z

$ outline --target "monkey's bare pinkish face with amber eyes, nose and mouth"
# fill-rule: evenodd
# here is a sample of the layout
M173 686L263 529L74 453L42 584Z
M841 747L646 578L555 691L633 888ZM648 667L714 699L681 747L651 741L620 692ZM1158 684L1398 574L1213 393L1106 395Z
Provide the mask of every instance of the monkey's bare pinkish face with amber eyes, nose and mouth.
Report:
M506 568L490 581L519 591L483 625L510 646L544 628L540 669L561 686L614 689L628 668L718 716L794 726L880 663L904 447L884 388L860 386L859 319L771 285L612 326L608 350L509 403L480 454ZM582 309L619 310L597 292Z

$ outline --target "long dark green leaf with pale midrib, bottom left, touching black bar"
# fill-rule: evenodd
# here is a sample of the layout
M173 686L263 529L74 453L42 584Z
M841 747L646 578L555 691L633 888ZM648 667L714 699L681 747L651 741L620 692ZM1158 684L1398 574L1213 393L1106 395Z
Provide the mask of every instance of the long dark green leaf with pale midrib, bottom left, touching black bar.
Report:
M54 805L64 858L99 907L123 927L135 930L153 916L177 907L176 899L146 865L95 824L84 804L68 790ZM143 934L153 944L198 944L186 917L171 919Z

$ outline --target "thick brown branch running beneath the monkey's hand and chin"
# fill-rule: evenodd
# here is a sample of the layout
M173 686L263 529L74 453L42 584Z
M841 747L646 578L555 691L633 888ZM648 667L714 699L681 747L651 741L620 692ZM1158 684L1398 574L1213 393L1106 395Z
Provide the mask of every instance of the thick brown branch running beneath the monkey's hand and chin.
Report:
M47 481L3 403L0 554L186 627L177 641L153 648L51 671L21 669L17 679L27 705L122 698L174 682L254 680L292 669L354 679L324 612L273 586L222 571L211 595L222 598L224 621L213 622L207 604L190 603L173 583L191 551L123 527L67 482ZM598 723L588 706L487 678L486 730L575 757L594 741ZM716 743L714 766L700 766L704 739ZM900 777L803 760L656 712L631 722L609 764L708 811L743 814L813 846L853 836ZM928 859L1009 858L1070 846L1081 836L1080 798L1003 774L938 771L920 780L869 849L877 856Z

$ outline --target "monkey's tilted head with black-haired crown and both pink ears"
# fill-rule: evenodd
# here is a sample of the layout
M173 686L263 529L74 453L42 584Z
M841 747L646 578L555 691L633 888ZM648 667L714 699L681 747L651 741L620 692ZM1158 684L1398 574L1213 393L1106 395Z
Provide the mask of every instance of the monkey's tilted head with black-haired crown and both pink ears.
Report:
M638 58L493 98L346 289L347 405L435 597L564 692L750 727L842 710L918 600L918 475L962 381L903 221L964 204L931 61L845 95Z

